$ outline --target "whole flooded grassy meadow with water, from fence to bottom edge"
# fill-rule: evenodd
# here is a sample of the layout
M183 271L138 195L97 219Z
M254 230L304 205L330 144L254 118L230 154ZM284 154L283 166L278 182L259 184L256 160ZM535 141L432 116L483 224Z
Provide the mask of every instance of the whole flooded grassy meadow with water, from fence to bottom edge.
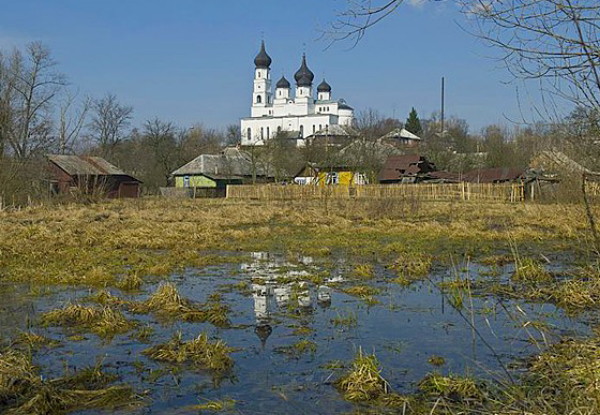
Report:
M600 411L576 205L148 199L0 234L0 413Z

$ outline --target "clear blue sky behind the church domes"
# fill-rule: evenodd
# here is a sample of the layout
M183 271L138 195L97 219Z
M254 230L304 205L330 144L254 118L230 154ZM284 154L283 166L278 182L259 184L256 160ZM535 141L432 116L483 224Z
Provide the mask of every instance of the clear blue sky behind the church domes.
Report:
M320 29L345 0L0 0L0 49L41 40L81 93L110 92L134 107L135 124L159 117L222 128L249 115L253 59L261 37L276 81L306 50L320 82L357 111L406 119L440 107L472 132L529 116L527 93L486 48L459 27L452 2L408 1L354 48L326 49ZM522 88L522 85L519 85ZM535 90L535 88L533 88Z

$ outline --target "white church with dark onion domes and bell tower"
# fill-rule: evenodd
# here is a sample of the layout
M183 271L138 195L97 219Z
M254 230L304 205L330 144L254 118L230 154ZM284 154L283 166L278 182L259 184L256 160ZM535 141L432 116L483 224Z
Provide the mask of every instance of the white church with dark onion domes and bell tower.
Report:
M241 120L242 145L264 145L284 131L287 137L296 139L296 144L302 146L307 137L319 131L352 125L354 110L344 100L331 98L331 86L325 80L317 86L315 99L315 75L308 69L306 55L302 56L300 69L294 75L296 88L293 95L285 76L277 81L273 95L271 63L263 41L254 58L256 69L250 117Z

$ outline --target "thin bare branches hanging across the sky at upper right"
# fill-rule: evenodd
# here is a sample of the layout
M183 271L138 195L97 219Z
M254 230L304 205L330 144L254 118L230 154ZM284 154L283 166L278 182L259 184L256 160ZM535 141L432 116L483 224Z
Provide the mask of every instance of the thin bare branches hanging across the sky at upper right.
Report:
M436 1L436 0L430 0ZM360 41L403 0L349 0L329 31ZM465 27L500 52L520 79L578 106L600 108L600 3L596 0L454 0ZM472 26L471 26L472 25Z

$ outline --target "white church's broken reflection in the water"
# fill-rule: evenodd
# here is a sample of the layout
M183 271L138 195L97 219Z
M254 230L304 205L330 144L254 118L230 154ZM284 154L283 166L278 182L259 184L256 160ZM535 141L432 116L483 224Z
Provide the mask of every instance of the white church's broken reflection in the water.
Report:
M254 259L252 263L243 264L241 268L254 281L252 284L256 317L254 332L263 346L273 331L271 323L274 313L294 306L296 312L310 314L315 305L322 308L331 305L329 286L326 284L315 286L302 281L303 276L309 275L307 271L294 269L293 264L269 253L255 252L252 253L252 258ZM310 266L313 260L310 257L299 257L298 262L301 266ZM280 272L281 268L285 268L285 271ZM278 282L278 277L284 280L293 278L296 282Z

